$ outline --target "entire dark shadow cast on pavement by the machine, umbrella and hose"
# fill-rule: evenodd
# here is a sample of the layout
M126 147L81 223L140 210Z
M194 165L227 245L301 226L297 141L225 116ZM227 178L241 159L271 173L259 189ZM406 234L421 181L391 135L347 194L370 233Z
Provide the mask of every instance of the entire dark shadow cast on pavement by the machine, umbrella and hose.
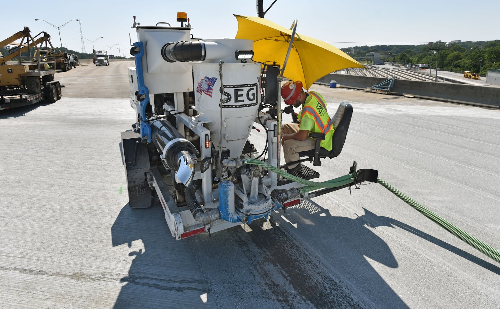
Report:
M250 226L175 241L158 204L147 209L127 204L111 228L112 246L130 248L131 242L141 240L144 252L128 254L135 258L128 276L121 278L126 284L115 308L174 305L188 294L191 303L184 304L186 308L212 308L213 300L223 308L243 301L250 307L273 308L408 308L366 259L398 268L389 246L374 233L379 227L401 228L500 274L500 268L459 248L363 210L354 219L331 216L328 209L307 200ZM288 232L284 225L289 223L280 215L295 220L297 229ZM186 276L193 269L195 275ZM242 285L248 296L240 295ZM199 298L203 294L209 296L208 303ZM260 297L251 297L256 294Z

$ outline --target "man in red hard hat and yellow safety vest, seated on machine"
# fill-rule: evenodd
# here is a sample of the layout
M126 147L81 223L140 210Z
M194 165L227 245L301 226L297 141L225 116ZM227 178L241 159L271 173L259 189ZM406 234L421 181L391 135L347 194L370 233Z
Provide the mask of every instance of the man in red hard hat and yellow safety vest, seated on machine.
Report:
M298 124L284 123L281 127L281 145L285 162L299 161L300 151L314 149L315 142L308 136L309 133L324 133L321 147L331 150L331 137L334 129L323 97L315 91L305 92L300 80L284 83L281 86L281 97L286 105L302 107L297 114ZM300 166L300 162L291 164L286 167L286 171L293 173L299 170Z

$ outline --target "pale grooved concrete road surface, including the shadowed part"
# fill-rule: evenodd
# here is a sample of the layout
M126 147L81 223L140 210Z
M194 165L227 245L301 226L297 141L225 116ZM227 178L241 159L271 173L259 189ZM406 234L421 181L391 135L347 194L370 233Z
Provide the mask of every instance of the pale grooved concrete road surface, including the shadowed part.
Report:
M174 241L159 205L127 204L127 66L57 73L61 100L0 113L0 308L500 308L500 264L379 184ZM354 108L322 180L356 160L500 247L500 111L311 89Z

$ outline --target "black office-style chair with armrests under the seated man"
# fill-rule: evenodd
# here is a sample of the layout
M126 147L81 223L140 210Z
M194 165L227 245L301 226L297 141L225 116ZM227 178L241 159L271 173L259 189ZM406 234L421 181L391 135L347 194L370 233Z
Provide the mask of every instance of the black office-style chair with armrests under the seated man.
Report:
M300 151L300 157L309 157L309 161L313 161L313 165L321 166L320 158L334 158L342 151L347 130L349 129L350 118L352 117L352 105L347 102L342 102L338 105L335 115L331 119L333 122L333 136L331 137L331 150L328 151L320 147L320 143L324 140L325 134L323 133L309 133L309 137L315 140L314 149L307 151ZM300 160L305 161L305 160Z

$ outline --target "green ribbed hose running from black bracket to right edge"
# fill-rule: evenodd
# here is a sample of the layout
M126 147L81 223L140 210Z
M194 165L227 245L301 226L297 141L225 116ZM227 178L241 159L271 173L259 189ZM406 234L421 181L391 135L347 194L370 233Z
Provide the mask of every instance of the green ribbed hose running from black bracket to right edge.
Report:
M445 229L449 233L453 234L457 238L461 239L474 249L478 250L479 252L483 253L484 255L488 256L489 258L493 259L494 261L500 263L500 251L494 249L493 247L486 245L482 241L478 240L477 238L473 237L472 235L468 234L467 232L463 231L462 229L458 228L457 226L453 225L452 223L446 221L445 219L439 217L437 214L433 213L432 211L428 210L421 204L415 202L413 199L408 197L406 194L402 193L398 189L394 188L393 186L389 185L382 179L378 178L378 183L381 184L383 187L385 187L387 190L392 192L395 196L406 202L408 205L416 209L418 212L423 214L425 217L429 218L432 220L434 223L439 225L441 228Z

